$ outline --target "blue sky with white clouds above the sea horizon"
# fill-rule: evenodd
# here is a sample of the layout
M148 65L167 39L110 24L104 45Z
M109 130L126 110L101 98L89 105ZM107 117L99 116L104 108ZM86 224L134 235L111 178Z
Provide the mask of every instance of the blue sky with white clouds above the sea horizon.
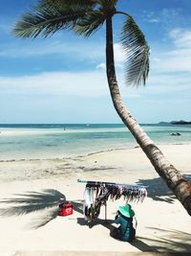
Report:
M0 0L0 123L120 123L105 76L105 27L90 38L61 31L21 39L11 27L32 0ZM115 18L117 80L138 123L191 121L191 1L121 0L151 48L145 87L124 81Z

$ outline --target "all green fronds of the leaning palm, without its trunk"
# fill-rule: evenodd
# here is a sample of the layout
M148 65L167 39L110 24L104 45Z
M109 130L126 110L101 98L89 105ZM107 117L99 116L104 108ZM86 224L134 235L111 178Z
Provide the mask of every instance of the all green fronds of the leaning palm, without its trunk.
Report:
M68 29L78 35L96 33L117 12L118 0L38 0L13 28L19 37L46 37ZM127 83L145 84L149 72L149 47L134 19L127 13L121 41L127 57Z

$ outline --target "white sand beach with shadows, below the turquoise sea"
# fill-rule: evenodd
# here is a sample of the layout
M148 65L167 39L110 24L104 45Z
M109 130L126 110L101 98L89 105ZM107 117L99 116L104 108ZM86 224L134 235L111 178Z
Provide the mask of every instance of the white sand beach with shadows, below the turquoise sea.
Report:
M191 180L191 145L159 147ZM0 162L0 255L19 250L191 252L191 218L168 190L140 149L103 151L77 158ZM132 243L110 237L122 198L108 201L93 227L84 220L83 192L88 180L148 185L148 198L132 203L138 219ZM66 198L74 214L57 216Z

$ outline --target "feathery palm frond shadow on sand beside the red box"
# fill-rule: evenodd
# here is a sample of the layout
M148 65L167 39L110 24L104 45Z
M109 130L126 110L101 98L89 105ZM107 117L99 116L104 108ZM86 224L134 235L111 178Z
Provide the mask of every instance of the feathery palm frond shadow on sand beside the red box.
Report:
M15 194L14 196L15 198L4 198L0 201L4 205L9 205L8 207L0 208L0 216L22 216L38 212L38 217L33 218L29 224L29 227L33 229L53 221L58 216L59 204L67 201L65 195L53 189ZM72 201L72 203L75 211L83 213L82 203L78 202L78 200Z

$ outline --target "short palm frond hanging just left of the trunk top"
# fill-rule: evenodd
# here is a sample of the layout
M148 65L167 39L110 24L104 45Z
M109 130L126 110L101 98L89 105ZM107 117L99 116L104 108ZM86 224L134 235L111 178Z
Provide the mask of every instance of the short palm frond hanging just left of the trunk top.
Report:
M103 12L94 11L87 12L83 19L76 23L74 31L79 35L89 36L102 26L105 21L105 15Z

